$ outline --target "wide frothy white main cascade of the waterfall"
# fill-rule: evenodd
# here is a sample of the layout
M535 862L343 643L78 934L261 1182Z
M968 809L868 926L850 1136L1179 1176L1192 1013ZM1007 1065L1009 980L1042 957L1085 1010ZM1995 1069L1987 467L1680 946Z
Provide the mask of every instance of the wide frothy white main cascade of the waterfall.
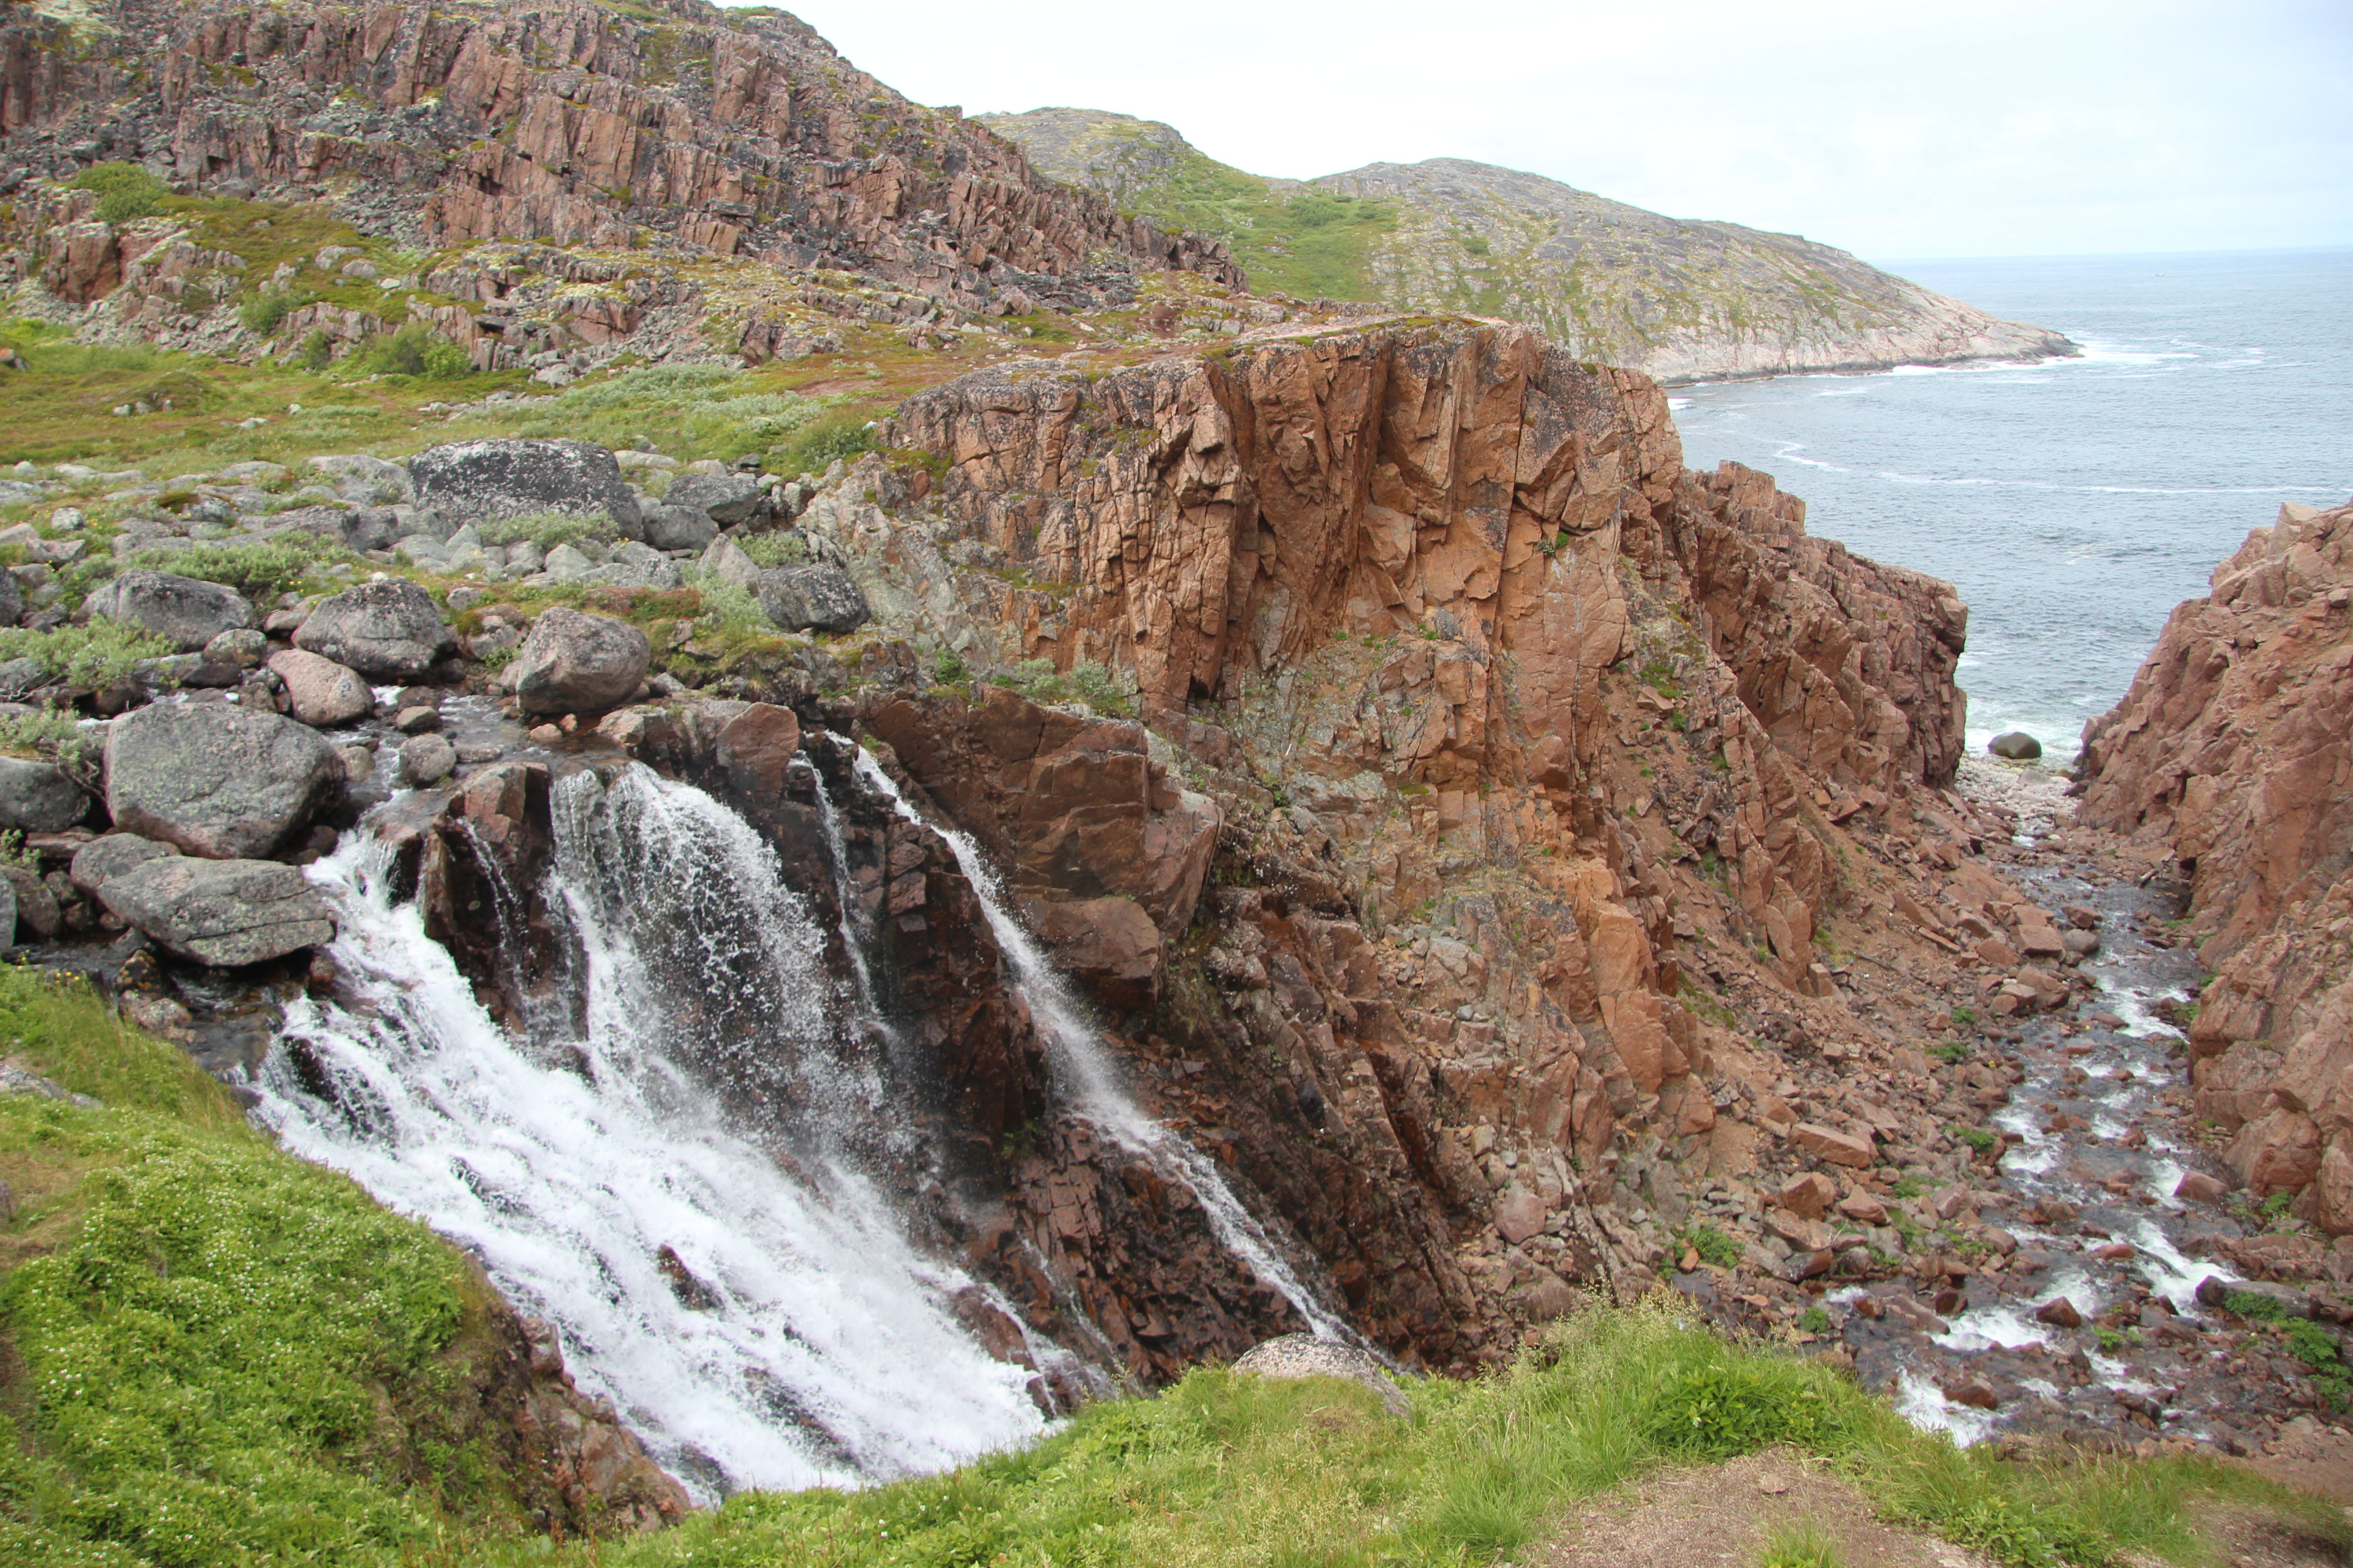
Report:
M922 1258L824 1138L878 1081L833 1044L821 938L758 835L640 766L562 780L555 830L586 1039L511 1041L353 835L311 875L355 1004L287 1009L259 1117L475 1253L706 1500L941 1469L1042 1432L1028 1373L953 1316L972 1281ZM722 1074L772 1095L788 1150L720 1107ZM666 1248L704 1291L664 1272Z

